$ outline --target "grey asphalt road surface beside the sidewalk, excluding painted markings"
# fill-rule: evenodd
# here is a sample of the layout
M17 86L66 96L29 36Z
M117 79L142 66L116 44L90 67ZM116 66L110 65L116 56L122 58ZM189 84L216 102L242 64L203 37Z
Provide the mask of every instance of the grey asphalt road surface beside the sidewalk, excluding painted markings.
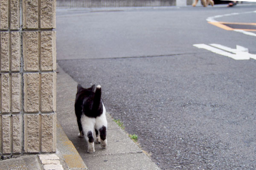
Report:
M107 112L163 170L254 170L256 60L193 46L256 54L255 36L206 20L256 23L256 5L225 6L58 9L58 65L102 85Z

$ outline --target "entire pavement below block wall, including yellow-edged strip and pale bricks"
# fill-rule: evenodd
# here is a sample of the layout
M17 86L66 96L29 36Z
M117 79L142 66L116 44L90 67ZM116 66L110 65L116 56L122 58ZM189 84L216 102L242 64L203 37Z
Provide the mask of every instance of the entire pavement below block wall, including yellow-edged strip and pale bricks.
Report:
M77 83L60 67L57 72L56 153L6 159L0 161L0 170L160 170L108 113L107 149L95 144L95 153L87 153L85 139L77 136Z

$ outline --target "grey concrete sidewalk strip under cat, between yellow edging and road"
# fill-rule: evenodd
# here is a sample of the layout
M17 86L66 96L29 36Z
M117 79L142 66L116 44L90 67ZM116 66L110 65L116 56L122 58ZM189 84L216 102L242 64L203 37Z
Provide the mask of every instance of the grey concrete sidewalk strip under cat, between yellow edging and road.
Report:
M95 153L87 153L85 139L77 137L79 130L74 113L77 82L60 67L57 71L57 119L89 170L160 170L108 113L107 149L95 144Z

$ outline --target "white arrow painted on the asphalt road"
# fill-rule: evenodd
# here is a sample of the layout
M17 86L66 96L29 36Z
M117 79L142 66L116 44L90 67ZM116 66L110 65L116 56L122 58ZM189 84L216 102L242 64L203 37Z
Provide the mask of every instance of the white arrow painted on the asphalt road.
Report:
M212 46L210 46L210 45L212 45ZM233 58L236 60L250 59L250 58L256 59L256 54L250 54L248 48L245 48L240 45L236 45L236 49L229 48L229 47L226 47L226 46L220 45L220 44L210 44L210 45L194 44L193 46L195 46L197 48L204 48L206 50L212 51L213 53L220 54L220 55L223 55L226 57L230 57L230 58Z

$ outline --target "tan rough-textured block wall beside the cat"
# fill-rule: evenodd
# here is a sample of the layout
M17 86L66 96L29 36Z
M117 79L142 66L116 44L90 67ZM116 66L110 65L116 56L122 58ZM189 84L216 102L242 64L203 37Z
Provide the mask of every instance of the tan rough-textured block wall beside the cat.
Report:
M0 0L0 156L56 151L55 0Z

